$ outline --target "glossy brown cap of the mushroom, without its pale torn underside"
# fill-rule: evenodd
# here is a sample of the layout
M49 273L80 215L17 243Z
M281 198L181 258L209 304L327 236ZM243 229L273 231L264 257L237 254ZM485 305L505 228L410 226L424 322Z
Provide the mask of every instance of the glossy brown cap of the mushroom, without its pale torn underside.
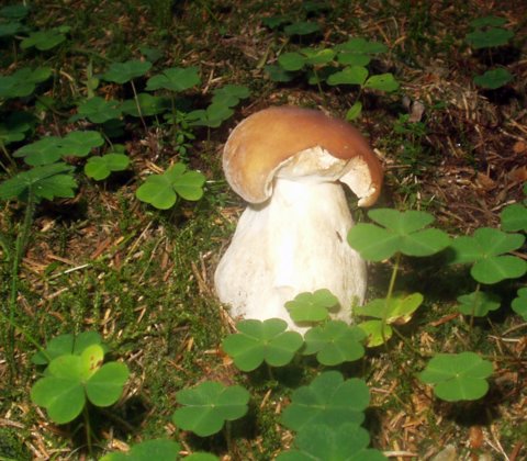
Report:
M381 191L382 167L367 139L349 123L323 112L293 106L265 109L231 133L223 154L225 177L244 200L261 203L272 193L277 168L295 154L322 147L343 160L361 160L368 183L361 205L374 203Z

